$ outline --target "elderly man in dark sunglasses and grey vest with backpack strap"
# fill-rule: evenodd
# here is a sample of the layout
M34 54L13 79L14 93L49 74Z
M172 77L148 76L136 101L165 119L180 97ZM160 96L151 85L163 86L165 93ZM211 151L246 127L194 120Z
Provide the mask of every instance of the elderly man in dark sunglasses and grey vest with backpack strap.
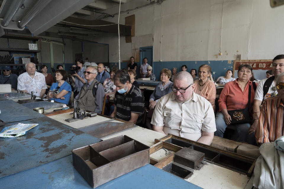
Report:
M101 113L104 104L104 86L95 78L98 71L93 66L88 66L83 72L87 82L75 98L80 100L78 106L91 112Z

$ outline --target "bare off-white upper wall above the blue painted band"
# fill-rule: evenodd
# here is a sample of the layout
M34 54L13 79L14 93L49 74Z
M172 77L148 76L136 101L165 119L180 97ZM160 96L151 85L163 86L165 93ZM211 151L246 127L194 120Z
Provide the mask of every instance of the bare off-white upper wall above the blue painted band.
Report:
M121 11L145 2L130 1L121 5ZM118 6L106 12L114 14ZM242 60L272 59L283 54L284 6L272 9L268 0L166 0L123 13L120 23L132 14L135 37L131 44L121 36L121 60L152 45L154 61L235 60L237 54ZM118 61L117 35L103 33L92 40L108 43L109 61Z

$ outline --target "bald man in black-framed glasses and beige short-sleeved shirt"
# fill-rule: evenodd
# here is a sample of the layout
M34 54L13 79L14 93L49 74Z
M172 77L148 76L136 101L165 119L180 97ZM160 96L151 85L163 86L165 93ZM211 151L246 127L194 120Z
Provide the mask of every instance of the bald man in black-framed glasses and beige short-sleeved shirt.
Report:
M216 131L214 111L208 100L193 92L194 88L191 74L179 72L173 92L157 102L151 124L154 131L210 145Z

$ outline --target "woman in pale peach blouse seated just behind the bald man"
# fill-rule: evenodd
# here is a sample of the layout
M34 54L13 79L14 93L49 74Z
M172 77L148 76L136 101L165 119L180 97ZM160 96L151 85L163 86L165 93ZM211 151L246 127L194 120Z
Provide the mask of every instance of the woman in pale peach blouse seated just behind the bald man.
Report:
M199 94L201 97L206 98L215 111L215 98L216 98L216 87L214 82L210 81L208 77L211 75L211 67L203 64L198 69L199 80L195 80L194 93Z

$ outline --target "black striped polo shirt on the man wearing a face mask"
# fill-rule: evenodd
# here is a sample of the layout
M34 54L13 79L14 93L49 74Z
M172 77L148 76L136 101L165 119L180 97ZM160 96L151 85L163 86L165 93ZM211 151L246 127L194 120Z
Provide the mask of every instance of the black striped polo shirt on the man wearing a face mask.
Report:
M140 123L144 113L144 95L141 90L132 85L128 94L115 93L114 105L116 106L115 118L125 121L130 120L131 113L138 113L136 124Z

